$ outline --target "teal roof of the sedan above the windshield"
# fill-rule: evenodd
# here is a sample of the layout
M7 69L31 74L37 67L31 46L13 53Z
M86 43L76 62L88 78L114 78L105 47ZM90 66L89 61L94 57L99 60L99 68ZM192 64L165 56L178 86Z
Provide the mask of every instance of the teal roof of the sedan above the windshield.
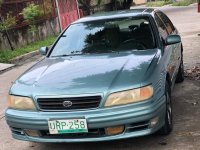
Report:
M154 8L138 8L138 9L121 10L121 11L101 12L101 13L96 13L94 15L78 19L74 23L106 20L106 19L113 19L113 18L152 15L152 12L154 11L155 11Z

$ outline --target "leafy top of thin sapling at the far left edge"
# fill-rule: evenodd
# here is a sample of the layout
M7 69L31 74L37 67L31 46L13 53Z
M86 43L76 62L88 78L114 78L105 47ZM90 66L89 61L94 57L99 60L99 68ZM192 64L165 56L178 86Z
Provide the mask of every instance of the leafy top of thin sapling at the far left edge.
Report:
M11 13L7 13L5 17L1 18L0 22L0 32L7 30L16 24L16 18L11 15Z

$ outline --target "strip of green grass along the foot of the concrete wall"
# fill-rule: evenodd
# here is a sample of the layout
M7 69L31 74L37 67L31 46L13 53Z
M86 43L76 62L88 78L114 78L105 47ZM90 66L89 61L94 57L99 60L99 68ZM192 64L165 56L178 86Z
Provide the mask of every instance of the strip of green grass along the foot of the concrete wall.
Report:
M0 62L1 63L9 63L9 61L17 56L35 51L42 46L49 46L53 44L57 36L48 37L45 40L37 41L30 43L27 46L16 48L14 51L12 50L0 50Z

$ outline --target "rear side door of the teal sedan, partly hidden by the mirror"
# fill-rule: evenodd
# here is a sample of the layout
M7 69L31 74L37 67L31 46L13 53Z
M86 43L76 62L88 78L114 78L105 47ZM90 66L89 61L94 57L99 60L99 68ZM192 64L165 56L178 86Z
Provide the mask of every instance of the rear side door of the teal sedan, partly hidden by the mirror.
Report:
M158 15L158 17L162 20L162 22L164 23L168 35L175 35L178 34L177 30L175 29L174 25L172 24L172 22L170 21L170 19L161 11L156 13ZM170 62L171 62L171 74L172 74L172 81L175 81L175 77L176 74L178 73L178 68L179 68L179 64L180 64L180 60L181 60L181 45L180 43L178 44L172 44L172 45L168 45L165 48L170 49L171 53L171 58L170 58Z

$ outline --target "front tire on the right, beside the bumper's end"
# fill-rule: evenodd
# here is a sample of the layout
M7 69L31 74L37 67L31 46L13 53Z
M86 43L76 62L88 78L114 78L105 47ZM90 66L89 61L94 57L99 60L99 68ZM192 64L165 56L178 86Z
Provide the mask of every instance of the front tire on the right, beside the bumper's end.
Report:
M165 84L165 96L166 96L165 124L158 132L160 135L169 135L173 129L171 89L167 81Z

